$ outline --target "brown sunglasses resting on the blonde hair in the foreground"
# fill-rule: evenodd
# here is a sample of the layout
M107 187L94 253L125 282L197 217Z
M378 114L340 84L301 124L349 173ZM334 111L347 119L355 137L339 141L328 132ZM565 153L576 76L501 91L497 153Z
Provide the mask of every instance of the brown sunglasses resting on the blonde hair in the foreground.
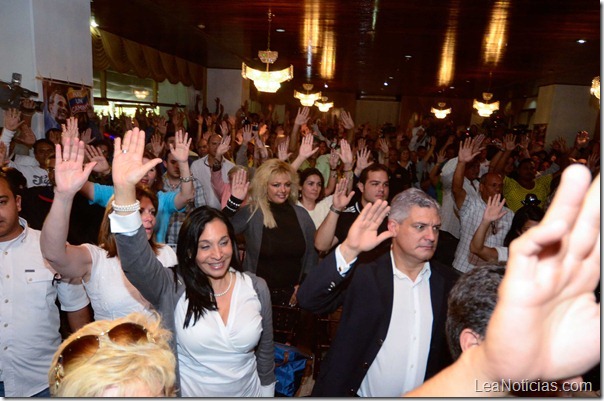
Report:
M78 337L63 348L55 366L55 387L58 388L61 380L65 377L65 371L69 365L78 358L89 360L101 346L101 337L107 336L109 340L118 345L133 345L140 341L155 342L147 335L147 329L137 323L121 323L112 327L98 336L89 334Z

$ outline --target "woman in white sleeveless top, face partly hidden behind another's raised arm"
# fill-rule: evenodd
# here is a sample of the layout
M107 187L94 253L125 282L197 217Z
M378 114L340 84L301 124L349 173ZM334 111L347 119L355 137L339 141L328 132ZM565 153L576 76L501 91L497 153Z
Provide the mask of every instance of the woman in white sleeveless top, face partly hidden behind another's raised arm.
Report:
M132 312L150 314L151 304L126 279L117 255L115 239L109 231L109 214L113 211L111 202L99 230L98 246L93 244L71 245L67 242L67 232L73 200L92 169L93 163L82 170L84 144L69 140L57 145L55 166L55 197L44 221L40 235L42 255L50 266L63 278L82 280L95 320L115 319ZM152 249L154 259L162 268L176 264L172 248L159 245L153 239L157 196L152 191L139 187L136 198L137 209L145 229L145 242Z

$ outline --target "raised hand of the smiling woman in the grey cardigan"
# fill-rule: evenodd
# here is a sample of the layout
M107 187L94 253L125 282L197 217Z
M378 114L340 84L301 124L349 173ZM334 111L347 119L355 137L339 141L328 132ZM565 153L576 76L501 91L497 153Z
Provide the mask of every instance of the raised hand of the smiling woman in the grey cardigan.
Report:
M116 191L134 188L149 170L161 163L160 158L143 163L145 131L138 128L127 131L123 140L115 138L114 149L111 176Z

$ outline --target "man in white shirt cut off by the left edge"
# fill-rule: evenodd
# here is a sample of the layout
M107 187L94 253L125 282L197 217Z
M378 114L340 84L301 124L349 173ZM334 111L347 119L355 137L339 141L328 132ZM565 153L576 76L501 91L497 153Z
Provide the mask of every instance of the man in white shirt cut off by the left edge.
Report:
M55 300L73 331L91 320L89 300L42 258L40 231L19 218L17 193L0 174L0 396L50 397L48 368L61 343Z

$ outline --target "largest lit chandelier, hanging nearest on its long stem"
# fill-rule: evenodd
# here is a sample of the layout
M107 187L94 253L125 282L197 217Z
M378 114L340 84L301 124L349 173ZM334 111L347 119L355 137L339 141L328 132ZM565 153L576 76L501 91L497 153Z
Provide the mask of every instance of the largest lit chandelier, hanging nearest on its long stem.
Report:
M269 71L269 65L273 64L279 57L279 52L271 51L271 21L273 14L268 10L268 40L266 50L258 51L258 58L266 64L266 71L256 70L247 66L245 63L241 65L241 76L254 81L256 89L260 92L275 93L281 87L281 82L289 81L294 77L294 66L279 70Z

